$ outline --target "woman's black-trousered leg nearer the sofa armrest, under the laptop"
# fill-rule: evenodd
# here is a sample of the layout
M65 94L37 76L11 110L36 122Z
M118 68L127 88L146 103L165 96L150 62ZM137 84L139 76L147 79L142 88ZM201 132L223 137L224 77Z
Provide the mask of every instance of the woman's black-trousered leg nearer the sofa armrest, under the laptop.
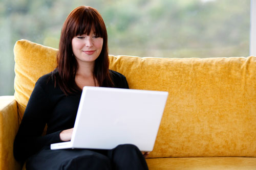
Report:
M105 167L105 168L104 168ZM42 149L26 163L29 169L111 169L110 159L92 150Z

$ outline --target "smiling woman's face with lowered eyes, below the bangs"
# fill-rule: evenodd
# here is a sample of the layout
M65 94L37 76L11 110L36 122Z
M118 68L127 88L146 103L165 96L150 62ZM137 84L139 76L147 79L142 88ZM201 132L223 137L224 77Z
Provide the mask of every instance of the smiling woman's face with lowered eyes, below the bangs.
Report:
M94 31L90 35L78 35L72 39L72 50L78 63L94 62L100 55L103 38L97 37Z

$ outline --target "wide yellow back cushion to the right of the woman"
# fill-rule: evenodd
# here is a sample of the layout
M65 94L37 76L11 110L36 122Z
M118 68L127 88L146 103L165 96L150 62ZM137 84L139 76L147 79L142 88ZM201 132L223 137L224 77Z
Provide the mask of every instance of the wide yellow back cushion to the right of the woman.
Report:
M150 157L256 156L256 57L116 56L111 67L131 88L169 92Z

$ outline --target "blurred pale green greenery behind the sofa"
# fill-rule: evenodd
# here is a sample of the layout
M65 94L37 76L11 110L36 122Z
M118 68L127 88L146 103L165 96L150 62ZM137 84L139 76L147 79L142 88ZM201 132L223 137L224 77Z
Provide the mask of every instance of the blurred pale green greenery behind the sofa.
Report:
M15 42L28 39L58 48L63 22L80 5L101 13L112 55L249 55L249 0L1 0L0 95L14 94Z

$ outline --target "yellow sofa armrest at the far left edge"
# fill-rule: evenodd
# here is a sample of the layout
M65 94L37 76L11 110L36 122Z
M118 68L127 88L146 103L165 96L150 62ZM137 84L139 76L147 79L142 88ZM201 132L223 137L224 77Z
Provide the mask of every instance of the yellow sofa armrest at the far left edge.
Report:
M13 156L13 142L18 126L14 96L0 96L0 169L21 169Z

